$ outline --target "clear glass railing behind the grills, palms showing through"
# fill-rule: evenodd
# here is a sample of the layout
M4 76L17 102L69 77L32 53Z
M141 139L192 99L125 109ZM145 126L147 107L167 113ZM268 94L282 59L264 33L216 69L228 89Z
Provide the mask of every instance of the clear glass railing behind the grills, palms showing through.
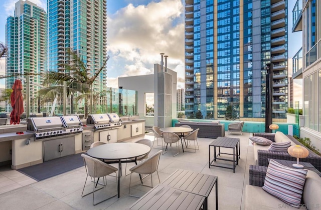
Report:
M45 80L45 75L7 74L6 77L0 74L0 118L10 118L13 109L21 120L71 114L80 118L92 113L137 114L138 93L135 90L103 88L102 82ZM15 88L15 83L21 83L21 88Z

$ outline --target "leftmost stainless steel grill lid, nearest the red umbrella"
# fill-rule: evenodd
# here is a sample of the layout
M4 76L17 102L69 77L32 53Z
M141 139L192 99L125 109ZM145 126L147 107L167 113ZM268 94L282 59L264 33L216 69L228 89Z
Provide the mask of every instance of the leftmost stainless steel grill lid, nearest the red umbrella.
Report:
M64 127L66 126L59 116L29 117L27 124L27 129L32 131Z

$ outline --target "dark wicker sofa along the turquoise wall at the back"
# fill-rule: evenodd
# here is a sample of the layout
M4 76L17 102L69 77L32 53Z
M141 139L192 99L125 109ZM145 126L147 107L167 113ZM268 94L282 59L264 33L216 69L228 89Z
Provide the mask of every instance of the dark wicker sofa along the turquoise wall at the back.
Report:
M205 121L180 121L175 123L176 127L179 127L183 124L189 125L194 130L200 128L198 132L198 137L203 138L217 138L219 136L225 136L225 127L224 124L220 124L219 121L214 122L205 122Z

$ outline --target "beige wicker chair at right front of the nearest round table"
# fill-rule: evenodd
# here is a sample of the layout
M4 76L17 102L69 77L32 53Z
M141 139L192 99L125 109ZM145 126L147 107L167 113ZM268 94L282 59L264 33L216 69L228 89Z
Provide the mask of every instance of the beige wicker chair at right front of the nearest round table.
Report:
M146 184L143 184L141 182L141 185L144 185L144 186L149 186L149 187L153 187L153 184L152 184L152 174L154 172L157 173L157 177L158 177L158 181L159 183L161 183L161 180L159 179L159 175L158 175L158 163L159 163L159 158L161 157L161 153L162 153L162 150L159 150L157 151L156 153L154 153L153 155L151 155L150 157L148 157L147 159L144 159L142 162L138 163L137 165L133 166L132 168L130 168L130 179L129 179L129 195L130 196L134 196L134 197L138 197L136 195L132 195L130 194L130 183L131 183L131 174L133 172L135 173L138 173L138 174L144 174L145 176L142 177L141 179L144 179L145 177L147 177L148 175L150 175L150 178L151 178L151 186L150 185L146 185Z

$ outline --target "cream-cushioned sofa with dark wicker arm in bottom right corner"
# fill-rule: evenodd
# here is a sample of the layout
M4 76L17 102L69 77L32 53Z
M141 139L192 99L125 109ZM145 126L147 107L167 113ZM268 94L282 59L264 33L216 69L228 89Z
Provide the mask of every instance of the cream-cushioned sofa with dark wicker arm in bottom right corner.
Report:
M245 209L298 209L263 190L265 166L250 165L250 184L245 186ZM321 177L308 170L299 209L321 207Z

